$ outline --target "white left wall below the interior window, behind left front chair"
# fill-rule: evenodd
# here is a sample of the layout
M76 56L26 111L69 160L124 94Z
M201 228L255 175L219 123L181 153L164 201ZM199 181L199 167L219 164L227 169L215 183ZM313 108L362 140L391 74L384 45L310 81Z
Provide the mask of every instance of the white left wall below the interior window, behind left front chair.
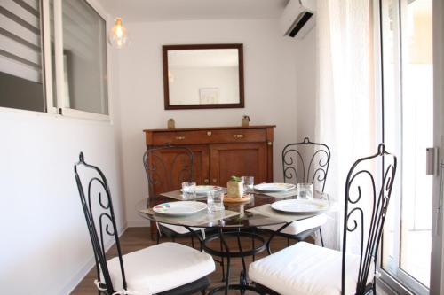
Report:
M126 227L118 116L110 124L3 110L0 134L2 291L67 294L93 262L73 170L79 151L107 175L117 227Z

